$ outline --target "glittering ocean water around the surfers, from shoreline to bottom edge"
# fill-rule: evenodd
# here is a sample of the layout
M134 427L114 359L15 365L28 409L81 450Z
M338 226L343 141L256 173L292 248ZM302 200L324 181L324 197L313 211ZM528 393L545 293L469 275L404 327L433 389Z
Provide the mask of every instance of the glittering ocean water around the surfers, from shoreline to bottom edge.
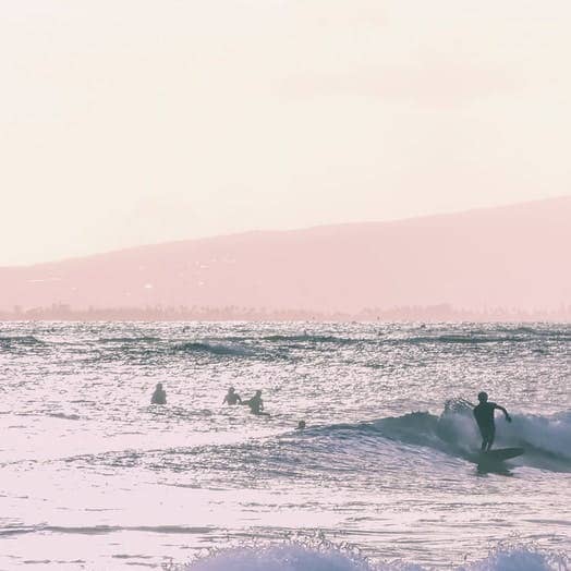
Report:
M1 323L0 570L571 569L570 377L569 325Z

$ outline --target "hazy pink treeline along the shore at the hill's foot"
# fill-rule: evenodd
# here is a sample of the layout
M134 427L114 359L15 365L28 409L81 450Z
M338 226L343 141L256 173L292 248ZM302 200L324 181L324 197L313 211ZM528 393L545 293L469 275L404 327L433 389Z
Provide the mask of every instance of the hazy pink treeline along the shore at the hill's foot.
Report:
M571 321L571 305L557 311L522 311L515 307L462 309L449 304L405 305L390 309L369 307L356 314L321 313L306 309L267 309L206 306L88 307L73 308L53 304L49 307L0 311L0 320L54 321Z

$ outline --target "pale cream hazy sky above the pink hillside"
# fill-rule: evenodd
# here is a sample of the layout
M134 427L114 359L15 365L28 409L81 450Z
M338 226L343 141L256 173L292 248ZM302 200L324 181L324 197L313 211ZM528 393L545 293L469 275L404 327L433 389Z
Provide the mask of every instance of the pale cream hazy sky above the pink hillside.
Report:
M0 0L0 265L571 192L569 0Z

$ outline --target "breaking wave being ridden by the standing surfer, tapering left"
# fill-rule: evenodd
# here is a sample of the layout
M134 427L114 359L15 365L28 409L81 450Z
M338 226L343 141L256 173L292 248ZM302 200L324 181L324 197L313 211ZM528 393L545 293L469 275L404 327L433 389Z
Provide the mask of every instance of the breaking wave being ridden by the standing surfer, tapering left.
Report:
M183 409L158 409L153 413L167 420L184 420L193 414ZM512 424L501 420L498 423L501 425L498 426L497 448L522 447L525 450L523 455L510 461L512 464L550 472L571 472L569 414L552 417L514 414ZM418 453L422 461L427 462L427 467L434 465L435 454L477 463L479 444L471 412L470 415L458 411L446 411L441 415L412 412L372 422L288 430L247 441L208 441L203 445L195 442L192 447L181 445L157 450L108 451L76 457L73 461L179 471L185 470L187 458L192 455L193 465L204 467L210 479L220 477L226 482L231 466L235 484L242 479L246 483L254 473L258 481L277 475L303 478L324 473L327 477L343 478L349 473L378 471L379 459L386 463L387 474L390 474L393 460L399 465L408 461L417 463L421 461Z

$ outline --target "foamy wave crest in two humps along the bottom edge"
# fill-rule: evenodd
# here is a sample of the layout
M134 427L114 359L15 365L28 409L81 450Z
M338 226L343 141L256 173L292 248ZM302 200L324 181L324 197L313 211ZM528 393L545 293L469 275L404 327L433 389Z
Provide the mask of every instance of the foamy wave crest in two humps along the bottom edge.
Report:
M457 567L457 571L564 571L569 558L563 554L530 546L506 546L486 558ZM234 547L212 552L194 562L171 566L172 571L423 571L423 567L403 561L374 562L347 546L328 542Z

